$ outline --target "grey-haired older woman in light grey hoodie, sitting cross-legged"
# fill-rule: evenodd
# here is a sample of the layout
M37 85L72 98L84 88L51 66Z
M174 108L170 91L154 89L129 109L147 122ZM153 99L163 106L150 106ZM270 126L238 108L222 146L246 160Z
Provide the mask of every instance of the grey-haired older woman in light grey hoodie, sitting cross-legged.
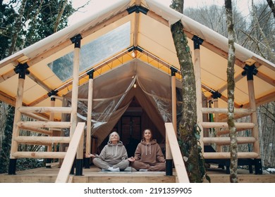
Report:
M129 166L128 155L117 132L109 135L109 141L99 155L89 154L86 157L93 158L92 162L102 171L119 172Z

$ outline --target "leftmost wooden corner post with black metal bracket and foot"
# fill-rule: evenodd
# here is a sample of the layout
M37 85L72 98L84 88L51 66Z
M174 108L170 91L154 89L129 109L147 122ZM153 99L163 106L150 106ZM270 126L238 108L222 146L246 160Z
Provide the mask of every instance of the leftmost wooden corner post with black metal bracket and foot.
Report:
M23 103L23 92L24 92L24 84L25 84L25 75L27 74L27 63L18 64L16 66L15 72L18 73L18 88L16 95L16 108L13 119L13 135L11 139L11 155L8 165L8 174L16 174L16 157L13 156L14 153L18 151L18 142L15 140L17 136L19 136L19 127L17 123L21 120L21 113L18 108L22 106Z

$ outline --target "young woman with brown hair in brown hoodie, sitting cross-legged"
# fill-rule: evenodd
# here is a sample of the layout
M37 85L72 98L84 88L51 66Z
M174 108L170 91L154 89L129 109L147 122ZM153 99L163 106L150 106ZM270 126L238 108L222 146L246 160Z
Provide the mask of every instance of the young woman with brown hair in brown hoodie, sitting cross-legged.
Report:
M150 129L145 129L143 139L135 150L135 156L128 158L138 171L165 171L165 159L157 140Z

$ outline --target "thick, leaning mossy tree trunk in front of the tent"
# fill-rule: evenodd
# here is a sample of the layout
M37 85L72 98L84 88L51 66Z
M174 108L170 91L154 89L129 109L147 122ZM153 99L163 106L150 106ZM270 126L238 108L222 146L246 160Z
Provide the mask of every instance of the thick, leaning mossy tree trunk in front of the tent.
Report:
M183 13L183 0L173 0L171 8ZM183 108L182 119L178 128L178 141L190 182L202 182L204 166L200 158L201 149L198 147L196 137L200 134L197 135L197 99L192 56L181 21L171 25L171 33L183 76Z

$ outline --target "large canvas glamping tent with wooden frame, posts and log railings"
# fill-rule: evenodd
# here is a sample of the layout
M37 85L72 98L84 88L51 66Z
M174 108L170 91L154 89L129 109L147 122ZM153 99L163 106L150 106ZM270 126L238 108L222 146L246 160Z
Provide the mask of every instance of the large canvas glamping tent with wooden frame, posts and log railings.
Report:
M170 30L178 20L194 61L198 124L205 132L219 127L217 136L228 134L228 39L156 0L121 0L0 62L0 99L16 106L9 173L15 172L16 158L64 158L66 153L19 153L17 146L71 143L78 122L86 125L87 152L94 146L92 136L99 147L113 129L131 145L131 140L140 140L142 129L153 127L165 144L165 123L173 122L175 128L181 115L181 68ZM275 100L275 65L236 44L235 70L236 117L252 117L252 122L236 125L240 131L252 130L252 136L238 143L254 147L238 156L260 163L255 108ZM213 98L215 108L202 105ZM215 122L203 118L207 113L215 114ZM21 114L37 121L23 122ZM51 139L26 139L20 129ZM58 138L66 131L69 139ZM228 137L205 132L201 142L216 143L219 154L204 153L204 158L229 158L219 152Z

